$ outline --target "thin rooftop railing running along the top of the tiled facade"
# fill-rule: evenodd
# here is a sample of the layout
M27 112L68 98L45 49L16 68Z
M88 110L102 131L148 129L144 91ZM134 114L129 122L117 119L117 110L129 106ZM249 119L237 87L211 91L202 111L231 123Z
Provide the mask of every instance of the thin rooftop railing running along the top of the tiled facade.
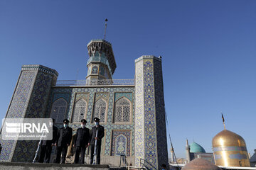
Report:
M134 79L58 80L55 86L134 86Z

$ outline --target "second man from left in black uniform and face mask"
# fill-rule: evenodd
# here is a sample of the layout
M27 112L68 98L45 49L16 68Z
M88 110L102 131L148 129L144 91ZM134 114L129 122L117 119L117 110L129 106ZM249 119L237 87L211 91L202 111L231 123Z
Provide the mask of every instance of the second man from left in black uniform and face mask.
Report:
M57 157L55 163L65 164L65 157L67 154L68 146L72 140L73 129L68 127L69 120L63 120L63 128L58 130L57 142L55 145L58 145L57 149ZM62 153L61 162L60 162L60 154Z

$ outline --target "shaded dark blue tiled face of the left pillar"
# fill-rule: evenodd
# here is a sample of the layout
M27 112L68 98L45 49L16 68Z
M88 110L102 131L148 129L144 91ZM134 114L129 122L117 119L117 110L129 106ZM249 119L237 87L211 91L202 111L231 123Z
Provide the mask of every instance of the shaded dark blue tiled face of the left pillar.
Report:
M38 72L24 118L45 118L53 76ZM38 141L18 140L11 162L32 162Z

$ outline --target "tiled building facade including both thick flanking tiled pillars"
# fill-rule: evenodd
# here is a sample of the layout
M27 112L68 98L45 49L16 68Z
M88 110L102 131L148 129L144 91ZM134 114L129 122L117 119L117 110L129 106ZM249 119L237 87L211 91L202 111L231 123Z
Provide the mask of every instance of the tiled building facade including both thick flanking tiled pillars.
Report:
M75 103L83 100L82 116L87 120L87 128L92 128L95 103L105 101L102 156L119 159L124 154L132 158L135 166L141 166L140 159L144 159L158 169L161 164L168 164L161 59L142 56L135 61L135 68L134 85L55 86L58 77L55 70L40 65L23 66L6 118L52 118L54 103L62 100L65 110L61 118L71 120L75 135L75 130L80 128L77 120L73 123L73 114L80 114L75 112ZM90 72L96 74L99 69L92 67ZM103 73L100 69L100 74ZM125 121L121 119L116 123L115 104L120 100L125 101L126 106L119 106L119 113L125 108L126 117ZM56 125L60 128L62 123ZM32 162L37 141L1 143L1 161Z

